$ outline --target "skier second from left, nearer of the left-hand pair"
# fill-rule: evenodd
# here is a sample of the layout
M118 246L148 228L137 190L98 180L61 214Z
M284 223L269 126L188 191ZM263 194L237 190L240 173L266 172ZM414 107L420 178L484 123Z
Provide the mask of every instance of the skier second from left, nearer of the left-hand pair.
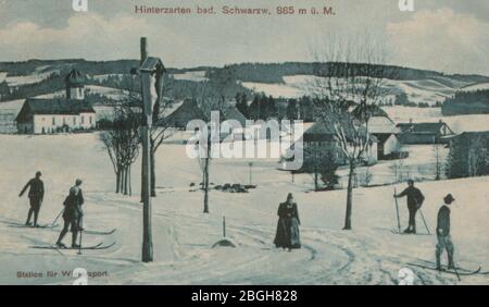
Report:
M60 237L58 238L57 246L61 248L66 248L66 245L63 244L63 238L71 230L72 232L72 248L79 248L80 246L76 244L76 238L78 236L78 232L83 231L82 228L82 219L84 212L82 210L82 205L84 205L84 196L82 192L82 180L76 180L75 186L70 188L70 195L64 200L64 212L63 220L64 225L63 230L60 233ZM71 226L71 229L70 229Z

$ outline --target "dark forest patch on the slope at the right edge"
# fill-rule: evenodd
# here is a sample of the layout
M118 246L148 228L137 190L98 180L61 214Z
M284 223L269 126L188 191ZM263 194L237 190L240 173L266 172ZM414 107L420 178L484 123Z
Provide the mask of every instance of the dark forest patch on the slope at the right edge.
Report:
M441 107L443 115L489 114L489 89L457 91Z

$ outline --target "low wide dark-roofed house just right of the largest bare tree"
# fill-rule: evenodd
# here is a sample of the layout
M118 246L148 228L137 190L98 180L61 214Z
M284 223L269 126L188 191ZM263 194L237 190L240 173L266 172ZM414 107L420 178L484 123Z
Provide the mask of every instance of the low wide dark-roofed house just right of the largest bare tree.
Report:
M455 136L441 120L435 123L401 123L397 127L401 143L409 145L449 144L450 138Z

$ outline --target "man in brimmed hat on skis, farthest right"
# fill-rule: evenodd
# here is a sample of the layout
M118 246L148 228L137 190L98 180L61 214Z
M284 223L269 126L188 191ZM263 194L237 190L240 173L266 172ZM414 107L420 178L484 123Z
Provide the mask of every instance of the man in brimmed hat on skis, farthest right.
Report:
M441 270L440 265L440 256L443 253L444 249L447 249L449 263L449 269L454 269L455 265L453 262L453 243L452 238L450 236L450 208L449 206L455 201L453 196L451 194L447 195L444 198L444 205L441 206L440 210L438 211L438 219L437 219L437 249L436 249L436 257L437 257L437 270Z

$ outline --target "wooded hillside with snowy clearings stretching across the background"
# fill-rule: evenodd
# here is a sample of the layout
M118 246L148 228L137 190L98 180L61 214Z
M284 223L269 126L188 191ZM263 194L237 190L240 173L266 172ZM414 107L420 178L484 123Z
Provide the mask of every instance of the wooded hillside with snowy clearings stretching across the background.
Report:
M63 76L73 67L89 76L93 86L125 89L128 72L138 65L137 60L86 61L29 60L25 62L0 62L0 101L51 95L64 89ZM200 82L210 84L225 79L229 97L237 91L264 93L276 98L297 98L312 94L311 84L318 76L317 63L241 63L224 67L199 66L190 69L167 67L170 98L181 99L195 95ZM322 64L323 65L323 64ZM325 64L327 65L327 64ZM391 77L386 79L386 102L397 95L405 94L411 105L440 105L457 90L489 84L481 75L443 74L434 71L386 66ZM340 75L338 76L340 77Z

